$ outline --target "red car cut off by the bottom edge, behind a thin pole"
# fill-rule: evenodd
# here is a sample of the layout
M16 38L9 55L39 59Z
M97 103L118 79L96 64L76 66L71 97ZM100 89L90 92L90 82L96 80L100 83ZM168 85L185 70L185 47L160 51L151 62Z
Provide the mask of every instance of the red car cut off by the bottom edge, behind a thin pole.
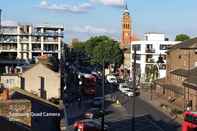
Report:
M102 131L101 122L94 119L83 119L74 123L74 131ZM104 124L104 131L109 131L109 125Z

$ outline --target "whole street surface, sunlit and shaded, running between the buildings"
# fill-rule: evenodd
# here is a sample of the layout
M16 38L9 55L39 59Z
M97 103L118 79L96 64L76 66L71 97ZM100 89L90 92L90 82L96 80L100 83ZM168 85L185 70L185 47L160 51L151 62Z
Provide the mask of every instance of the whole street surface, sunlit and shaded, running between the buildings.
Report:
M97 87L100 92L100 87ZM112 113L105 116L105 121L110 125L113 131L129 131L132 125L132 97L128 97L121 92L111 90L111 87L105 87L106 96L116 96L121 105L105 102L105 109L111 110ZM100 96L100 93L97 94ZM79 108L77 101L67 108L68 123L72 124L83 118L83 114L91 108L89 104L91 98L86 98ZM115 106L114 106L115 105ZM72 129L71 129L72 130ZM140 96L135 98L135 130L136 131L179 131L180 125L174 122L167 115L141 99Z

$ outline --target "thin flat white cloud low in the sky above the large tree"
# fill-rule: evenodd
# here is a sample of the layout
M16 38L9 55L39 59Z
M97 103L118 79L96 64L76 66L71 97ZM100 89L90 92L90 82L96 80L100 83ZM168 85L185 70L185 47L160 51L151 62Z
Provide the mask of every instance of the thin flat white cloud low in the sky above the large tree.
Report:
M94 27L90 25L81 27L70 27L65 29L66 32L76 32L76 33L91 33L91 34L114 34L116 31L112 29L106 29L102 27Z

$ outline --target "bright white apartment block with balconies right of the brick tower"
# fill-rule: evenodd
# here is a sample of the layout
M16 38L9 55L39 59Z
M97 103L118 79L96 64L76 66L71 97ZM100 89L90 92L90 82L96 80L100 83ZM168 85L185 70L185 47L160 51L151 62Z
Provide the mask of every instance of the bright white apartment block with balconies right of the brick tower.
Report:
M169 41L165 38L165 34L161 33L145 33L142 41L131 42L131 61L133 63L133 49L134 46L137 49L136 63L141 72L141 80L146 77L146 67L155 64L159 69L159 78L166 76L166 51L174 44L179 42ZM158 66L157 61L159 56L163 57L164 64Z

